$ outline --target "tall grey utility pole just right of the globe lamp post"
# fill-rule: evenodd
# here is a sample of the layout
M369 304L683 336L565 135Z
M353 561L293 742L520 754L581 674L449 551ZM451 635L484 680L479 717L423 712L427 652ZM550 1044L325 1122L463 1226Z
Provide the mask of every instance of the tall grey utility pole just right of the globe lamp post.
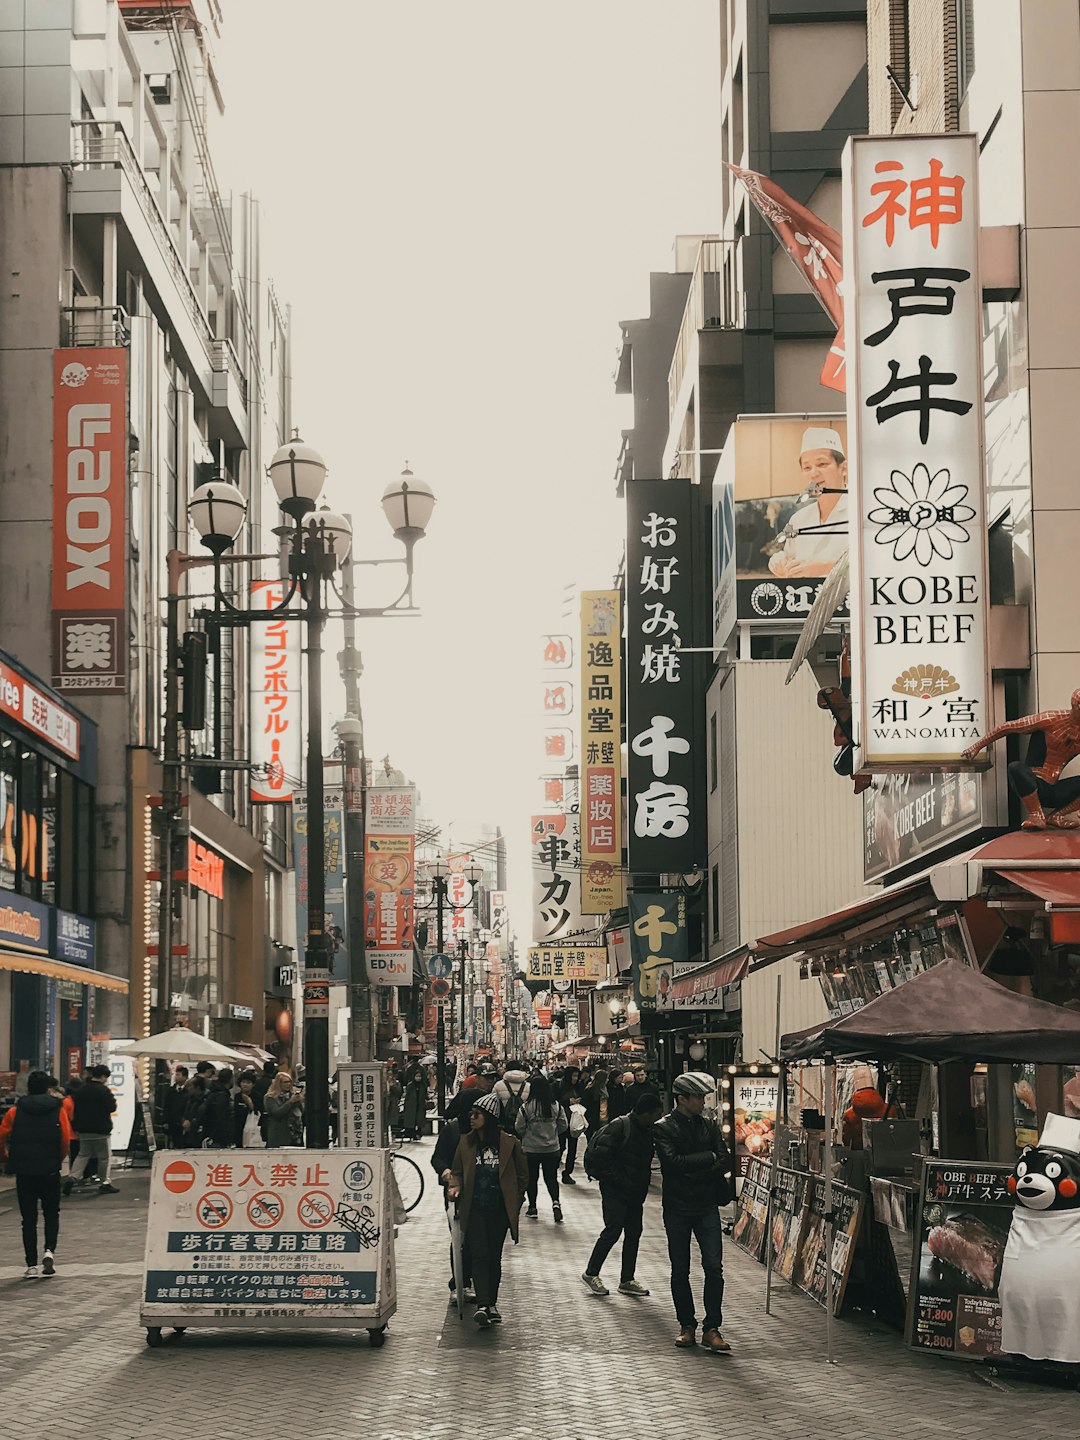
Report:
M347 517L351 523L351 516ZM334 727L346 762L346 896L348 913L348 1008L353 1060L374 1058L372 978L364 950L364 724L360 711L363 661L356 648L354 569L351 556L341 570L344 648L338 655L346 685L346 719Z

